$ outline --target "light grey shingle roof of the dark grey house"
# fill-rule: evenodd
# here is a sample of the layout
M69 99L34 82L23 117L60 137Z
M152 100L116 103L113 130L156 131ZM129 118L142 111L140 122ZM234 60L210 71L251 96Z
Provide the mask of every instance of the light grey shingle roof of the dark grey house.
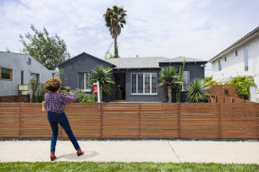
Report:
M149 57L149 58L119 58L119 59L107 59L109 63L114 64L115 68L161 68L161 63L182 63L186 62L208 62L201 59L190 59L179 57L175 59L168 59L162 57Z

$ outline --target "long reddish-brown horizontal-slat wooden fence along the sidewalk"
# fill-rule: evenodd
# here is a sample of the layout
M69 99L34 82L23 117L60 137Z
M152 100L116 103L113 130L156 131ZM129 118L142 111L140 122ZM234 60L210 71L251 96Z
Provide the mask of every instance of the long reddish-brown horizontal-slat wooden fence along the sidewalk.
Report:
M74 103L66 113L77 138L259 139L259 104ZM50 138L42 104L1 103L0 137Z

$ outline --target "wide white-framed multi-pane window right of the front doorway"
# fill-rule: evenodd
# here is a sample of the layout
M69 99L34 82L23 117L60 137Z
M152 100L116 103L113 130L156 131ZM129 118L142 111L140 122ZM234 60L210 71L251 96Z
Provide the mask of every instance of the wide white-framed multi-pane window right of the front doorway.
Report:
M132 94L157 94L157 75L155 73L132 74Z

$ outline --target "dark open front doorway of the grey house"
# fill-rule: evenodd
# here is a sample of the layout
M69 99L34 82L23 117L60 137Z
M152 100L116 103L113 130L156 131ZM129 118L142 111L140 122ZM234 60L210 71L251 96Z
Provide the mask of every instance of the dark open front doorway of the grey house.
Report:
M125 100L125 73L114 74L115 100Z

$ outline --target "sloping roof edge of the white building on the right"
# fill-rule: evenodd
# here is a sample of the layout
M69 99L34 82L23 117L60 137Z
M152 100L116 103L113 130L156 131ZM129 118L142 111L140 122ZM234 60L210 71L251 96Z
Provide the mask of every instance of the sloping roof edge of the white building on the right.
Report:
M213 58L209 59L208 61L209 62L213 62L213 61L217 60L218 58L221 58L221 56L224 56L230 50L235 49L237 46L239 46L240 44L242 44L242 43L244 43L246 41L250 41L250 40L254 39L258 35L259 35L259 26L256 27L253 31L248 32L247 34L245 34L245 36L243 36L238 41L236 41L233 44L231 44L229 47L227 47L227 49L222 50L221 52L219 52L216 56L214 56Z

